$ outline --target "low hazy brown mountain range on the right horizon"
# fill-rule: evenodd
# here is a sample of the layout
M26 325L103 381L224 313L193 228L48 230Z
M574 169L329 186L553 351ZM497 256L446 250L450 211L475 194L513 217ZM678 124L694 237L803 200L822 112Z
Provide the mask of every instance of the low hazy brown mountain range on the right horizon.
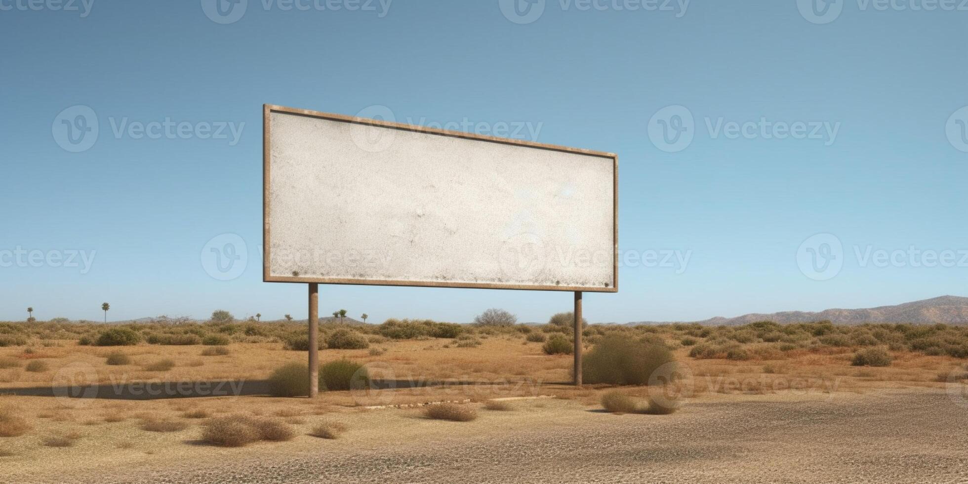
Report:
M968 324L968 297L941 296L896 306L869 309L829 309L819 313L785 311L782 313L753 313L737 318L710 318L694 321L710 325L738 325L756 321L809 322L829 320L836 324L862 324L864 322L913 322ZM630 322L629 324L659 324L657 322Z

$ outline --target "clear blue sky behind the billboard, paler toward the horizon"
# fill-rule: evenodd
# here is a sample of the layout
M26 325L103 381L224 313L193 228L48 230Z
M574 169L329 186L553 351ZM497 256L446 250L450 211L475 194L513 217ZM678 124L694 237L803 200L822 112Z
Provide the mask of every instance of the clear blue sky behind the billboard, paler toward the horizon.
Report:
M206 318L215 309L305 318L304 285L261 282L263 103L345 114L381 105L398 121L522 123L540 127L540 142L618 153L620 250L689 259L684 270L622 267L618 294L586 296L592 321L968 294L960 256L925 267L908 253L968 250L968 153L958 149L966 148L958 130L968 114L956 113L968 106L968 12L880 11L858 0L832 4L842 10L829 23L802 15L796 0L694 0L685 12L677 2L669 12L547 0L540 12L541 4L528 11L523 3L525 16L507 5L502 14L499 0L347 10L367 3L284 10L286 2L249 0L237 20L206 6L230 21L219 23L197 0L95 0L88 12L79 0L80 12L0 0L0 319L26 318L27 306L42 319L98 319L105 301L111 319ZM76 153L57 142L68 126L60 121L80 120L77 108L60 114L71 106L89 106L99 127L96 142ZM666 106L684 106L694 119L681 151L660 149L669 146L654 136L687 121L681 110L653 120ZM115 135L125 118L126 131ZM230 123L241 133L127 131L166 118L193 129ZM728 136L728 123L761 119L794 131L798 122L836 127L835 136L807 129L765 138L758 125ZM238 234L249 252L245 271L229 281L210 277L200 261L224 233ZM829 237L801 247L818 233L833 234L842 251ZM875 264L864 257L868 247L905 255ZM17 248L96 254L85 272L82 262L16 262ZM821 277L802 270L803 257L814 257L828 271L817 254L839 256L842 267ZM469 321L490 307L545 320L570 306L571 294L560 292L320 293L323 315L346 308L374 321Z

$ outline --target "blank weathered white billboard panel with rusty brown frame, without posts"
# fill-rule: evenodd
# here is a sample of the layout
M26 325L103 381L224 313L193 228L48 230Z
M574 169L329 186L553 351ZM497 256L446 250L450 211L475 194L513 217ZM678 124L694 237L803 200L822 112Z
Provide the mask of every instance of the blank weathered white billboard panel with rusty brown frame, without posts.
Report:
M613 154L264 115L266 282L618 289Z

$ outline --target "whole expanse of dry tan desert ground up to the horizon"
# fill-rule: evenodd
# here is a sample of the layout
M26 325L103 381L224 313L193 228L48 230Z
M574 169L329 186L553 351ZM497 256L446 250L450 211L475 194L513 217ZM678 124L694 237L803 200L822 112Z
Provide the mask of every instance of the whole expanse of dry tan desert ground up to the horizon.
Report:
M308 399L273 397L267 386L276 369L305 361L287 340L305 323L144 326L143 341L116 347L96 346L103 325L3 324L4 482L968 479L957 327L781 328L787 339L813 335L796 343L762 325L616 328L661 342L681 369L678 411L648 414L606 411L602 396L655 401L666 385L566 384L572 356L548 354L547 338L529 341L560 333L550 326L469 327L460 338L352 328L368 348L324 348L320 360L364 365L372 384ZM159 337L196 328L227 341ZM338 329L324 325L323 339ZM587 355L609 331L586 329ZM863 345L868 333L891 341ZM882 346L885 366L854 364L864 348ZM114 353L127 363L108 365ZM43 364L28 370L35 361ZM444 402L474 417L426 414ZM286 435L239 447L206 439L211 422L238 416ZM317 437L320 425L338 429L335 439Z

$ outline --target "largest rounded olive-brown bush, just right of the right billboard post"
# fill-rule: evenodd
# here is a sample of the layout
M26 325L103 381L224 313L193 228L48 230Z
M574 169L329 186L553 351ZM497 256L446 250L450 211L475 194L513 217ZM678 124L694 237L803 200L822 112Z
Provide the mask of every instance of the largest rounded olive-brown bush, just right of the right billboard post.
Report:
M645 385L656 369L672 361L665 346L609 335L585 356L582 375L589 383Z

